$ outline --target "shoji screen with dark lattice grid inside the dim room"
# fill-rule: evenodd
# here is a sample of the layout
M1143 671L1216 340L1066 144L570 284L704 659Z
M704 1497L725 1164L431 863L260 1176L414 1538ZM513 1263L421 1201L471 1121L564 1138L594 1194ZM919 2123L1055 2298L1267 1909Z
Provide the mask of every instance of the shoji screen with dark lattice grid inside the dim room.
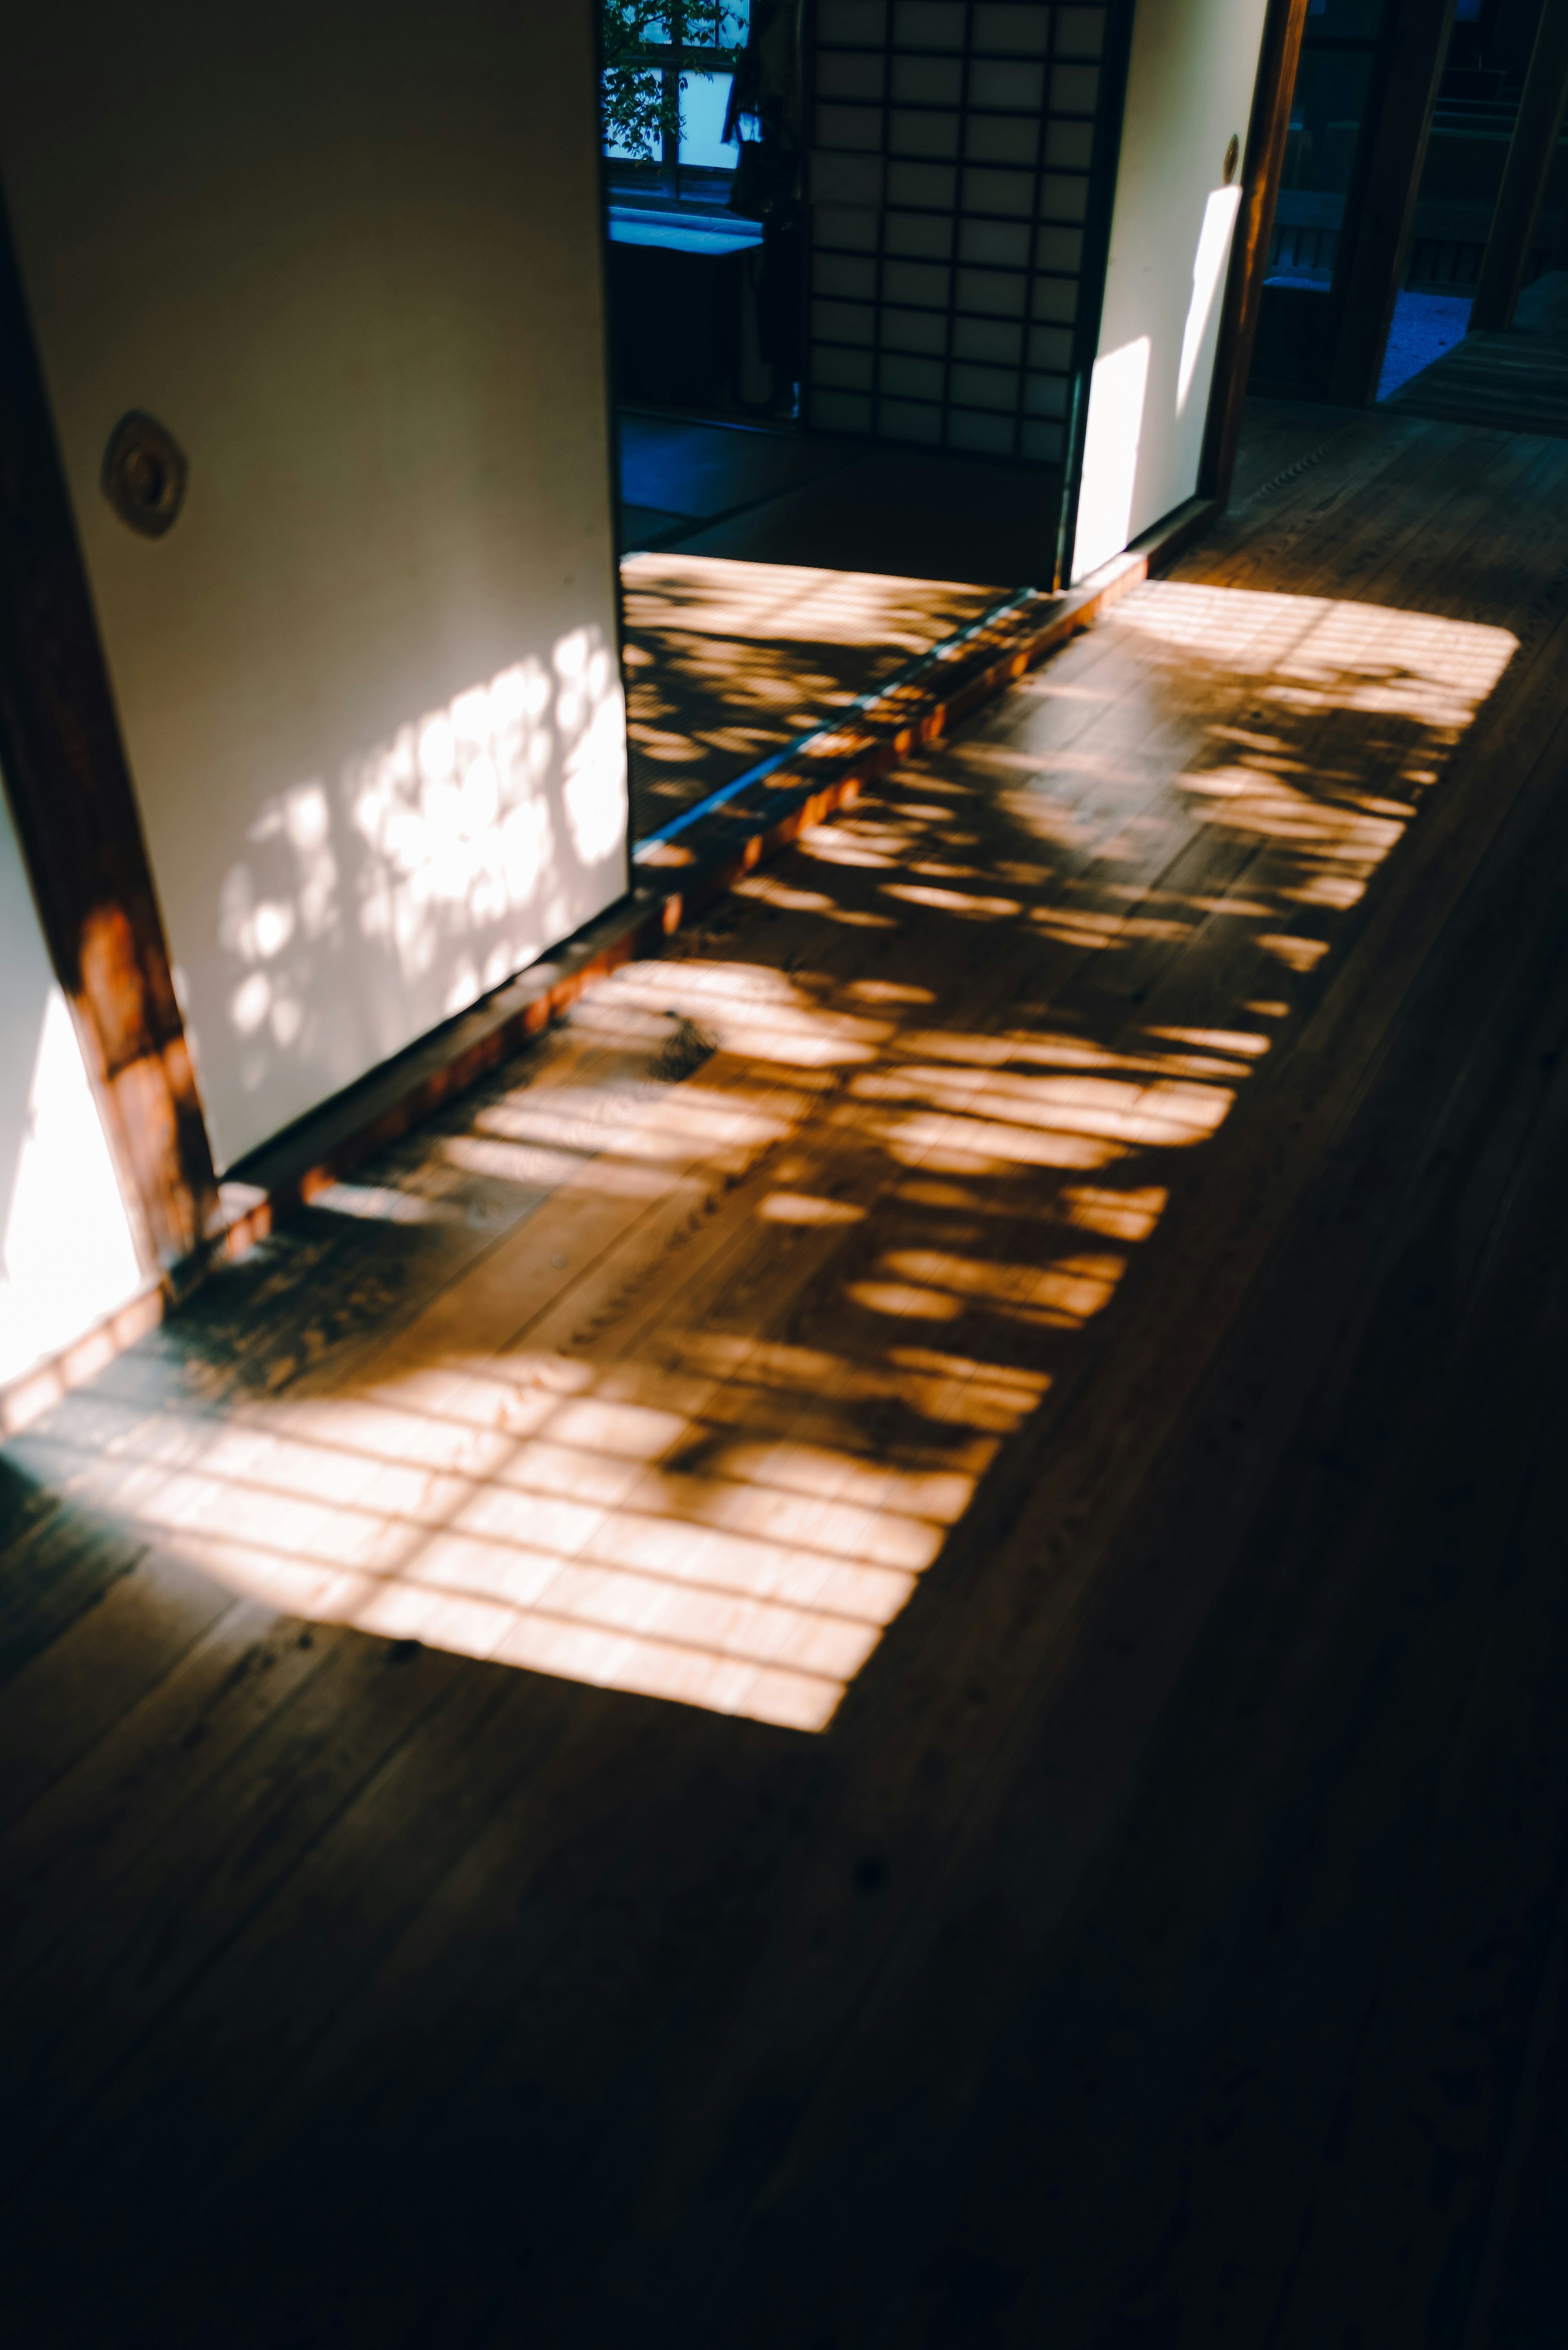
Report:
M1105 14L818 0L818 430L1063 461Z

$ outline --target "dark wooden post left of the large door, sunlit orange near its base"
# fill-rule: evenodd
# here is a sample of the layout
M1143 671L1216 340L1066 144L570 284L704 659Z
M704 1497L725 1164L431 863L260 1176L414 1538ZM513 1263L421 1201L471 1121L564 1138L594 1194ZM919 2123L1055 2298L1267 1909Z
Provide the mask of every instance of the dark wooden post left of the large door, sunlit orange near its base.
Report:
M212 1149L2 214L0 771L143 1262L167 1269L214 1222Z

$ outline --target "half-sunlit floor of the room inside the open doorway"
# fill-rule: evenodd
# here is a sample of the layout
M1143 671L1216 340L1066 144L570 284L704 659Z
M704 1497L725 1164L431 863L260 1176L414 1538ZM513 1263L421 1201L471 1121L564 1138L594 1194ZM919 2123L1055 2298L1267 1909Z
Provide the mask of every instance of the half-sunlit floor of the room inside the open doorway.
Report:
M1058 489L1041 465L623 414L632 839L1048 578Z

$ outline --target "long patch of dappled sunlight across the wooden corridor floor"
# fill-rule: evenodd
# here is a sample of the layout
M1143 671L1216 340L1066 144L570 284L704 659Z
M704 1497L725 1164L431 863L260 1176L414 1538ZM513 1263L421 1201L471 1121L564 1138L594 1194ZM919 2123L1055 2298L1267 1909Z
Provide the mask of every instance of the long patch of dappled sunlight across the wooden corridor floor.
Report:
M1512 646L1140 590L16 1457L280 1610L823 1730ZM348 1227L425 1250L357 1323Z

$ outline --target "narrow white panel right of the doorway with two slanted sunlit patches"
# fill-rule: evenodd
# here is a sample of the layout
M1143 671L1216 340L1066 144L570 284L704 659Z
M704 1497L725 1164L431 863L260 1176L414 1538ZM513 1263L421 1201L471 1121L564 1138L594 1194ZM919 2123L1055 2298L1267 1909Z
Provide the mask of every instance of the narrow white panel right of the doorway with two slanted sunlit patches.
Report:
M1072 578L1197 489L1267 0L1138 0Z

